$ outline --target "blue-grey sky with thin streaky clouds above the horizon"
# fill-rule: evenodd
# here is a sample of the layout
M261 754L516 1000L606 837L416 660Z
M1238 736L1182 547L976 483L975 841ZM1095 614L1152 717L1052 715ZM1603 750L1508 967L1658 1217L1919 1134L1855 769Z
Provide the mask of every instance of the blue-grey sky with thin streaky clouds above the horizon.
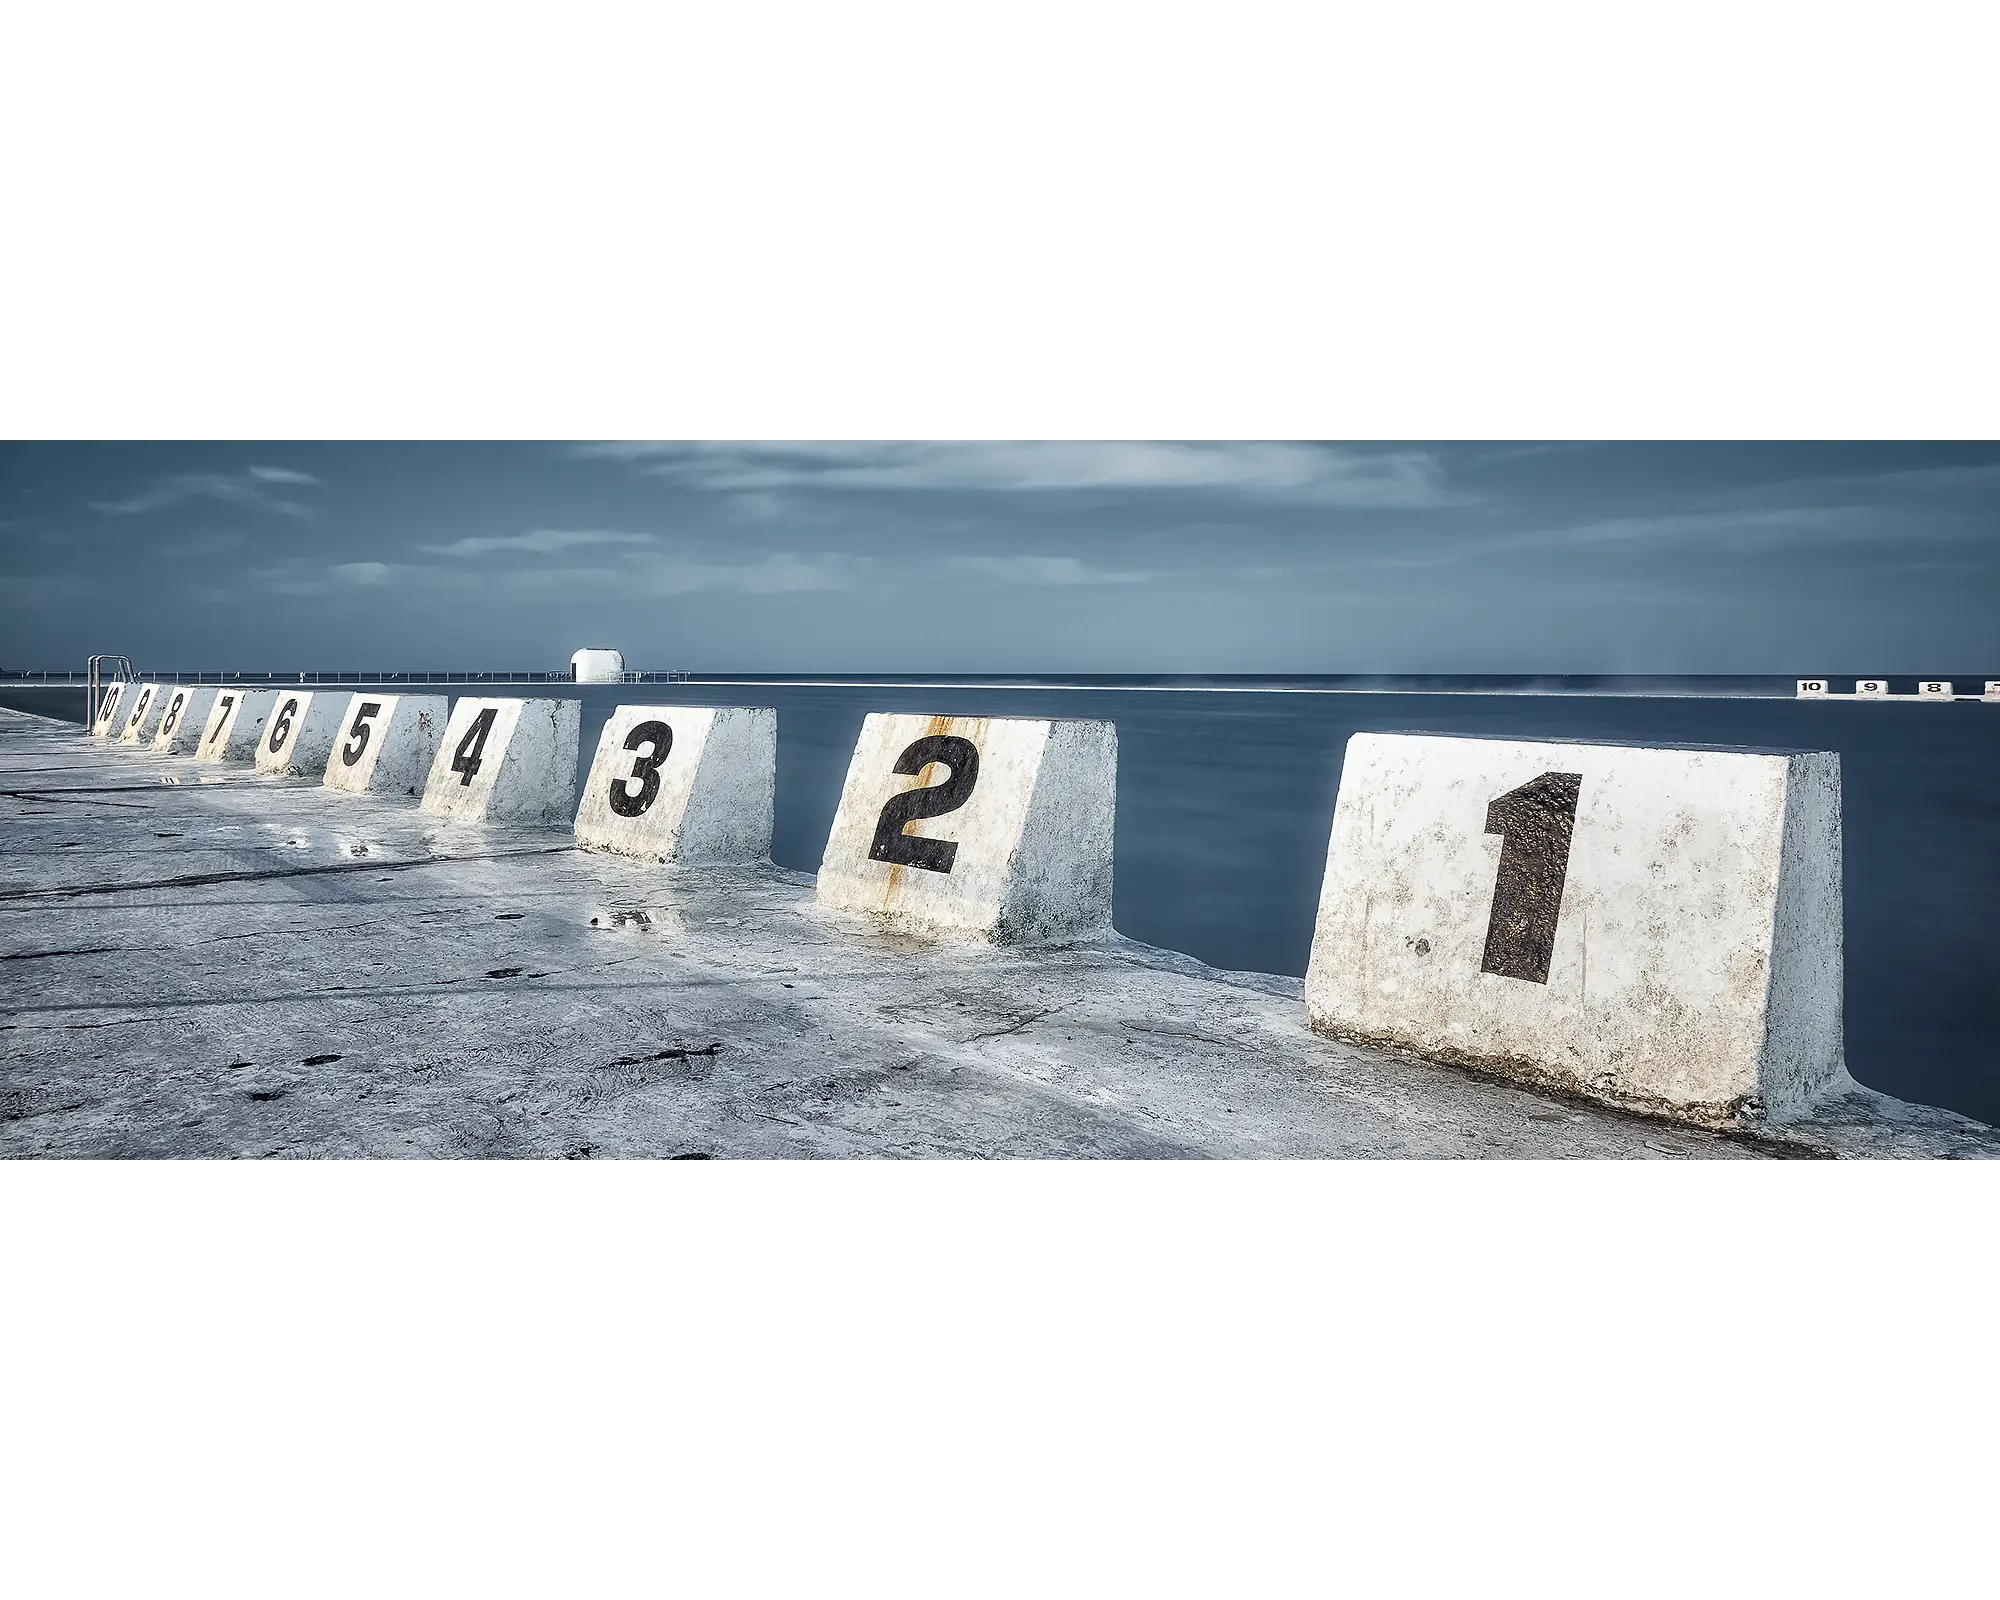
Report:
M1990 444L0 444L0 666L2000 676Z

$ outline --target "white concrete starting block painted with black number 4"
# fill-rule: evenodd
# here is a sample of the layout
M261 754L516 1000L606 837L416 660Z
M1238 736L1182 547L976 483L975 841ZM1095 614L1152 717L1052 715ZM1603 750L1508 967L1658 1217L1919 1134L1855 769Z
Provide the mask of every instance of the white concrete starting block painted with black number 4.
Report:
M448 822L552 822L576 814L574 700L460 700L422 808Z

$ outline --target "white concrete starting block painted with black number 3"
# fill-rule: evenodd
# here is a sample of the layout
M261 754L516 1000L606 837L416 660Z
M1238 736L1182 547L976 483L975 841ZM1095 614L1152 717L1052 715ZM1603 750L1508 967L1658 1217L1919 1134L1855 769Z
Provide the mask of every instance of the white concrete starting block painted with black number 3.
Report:
M620 706L590 762L576 842L652 862L760 862L776 778L770 706Z

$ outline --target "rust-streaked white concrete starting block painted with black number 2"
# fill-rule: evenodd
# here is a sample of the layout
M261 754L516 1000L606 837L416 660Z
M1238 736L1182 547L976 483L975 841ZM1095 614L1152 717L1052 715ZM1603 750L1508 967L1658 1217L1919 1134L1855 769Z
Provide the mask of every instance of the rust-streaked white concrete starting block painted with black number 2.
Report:
M1104 938L1116 804L1110 722L872 712L818 902L918 934Z

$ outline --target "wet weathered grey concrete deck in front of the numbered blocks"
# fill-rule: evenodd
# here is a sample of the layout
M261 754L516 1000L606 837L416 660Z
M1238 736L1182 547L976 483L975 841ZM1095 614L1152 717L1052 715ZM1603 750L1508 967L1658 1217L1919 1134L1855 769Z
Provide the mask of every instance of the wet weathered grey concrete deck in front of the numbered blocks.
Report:
M80 750L0 712L0 1156L2000 1156L1868 1090L1782 1142L1630 1116L1320 1038L1290 980L900 938L774 868L30 772Z

